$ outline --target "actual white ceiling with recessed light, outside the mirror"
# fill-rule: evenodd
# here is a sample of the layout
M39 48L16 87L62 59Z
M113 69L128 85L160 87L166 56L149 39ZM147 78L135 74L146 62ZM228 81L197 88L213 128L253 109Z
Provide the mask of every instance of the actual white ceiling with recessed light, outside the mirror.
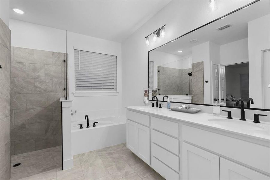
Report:
M122 42L170 1L10 0L10 18Z

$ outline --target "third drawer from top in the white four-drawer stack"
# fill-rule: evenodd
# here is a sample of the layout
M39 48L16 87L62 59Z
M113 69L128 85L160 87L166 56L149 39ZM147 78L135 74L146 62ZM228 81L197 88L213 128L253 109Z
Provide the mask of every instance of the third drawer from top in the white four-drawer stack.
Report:
M179 172L179 157L152 143L152 155L164 164Z

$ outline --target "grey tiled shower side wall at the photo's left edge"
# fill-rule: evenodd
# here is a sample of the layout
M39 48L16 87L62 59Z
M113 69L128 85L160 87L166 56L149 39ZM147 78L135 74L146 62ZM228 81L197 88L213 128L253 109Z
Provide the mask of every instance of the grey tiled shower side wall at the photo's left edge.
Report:
M0 19L0 179L10 179L10 29Z

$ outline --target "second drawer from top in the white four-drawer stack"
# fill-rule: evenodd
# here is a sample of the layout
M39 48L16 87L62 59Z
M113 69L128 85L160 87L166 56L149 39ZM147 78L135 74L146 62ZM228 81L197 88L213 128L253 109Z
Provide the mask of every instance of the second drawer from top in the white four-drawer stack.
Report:
M152 130L152 142L179 155L179 140L158 131Z

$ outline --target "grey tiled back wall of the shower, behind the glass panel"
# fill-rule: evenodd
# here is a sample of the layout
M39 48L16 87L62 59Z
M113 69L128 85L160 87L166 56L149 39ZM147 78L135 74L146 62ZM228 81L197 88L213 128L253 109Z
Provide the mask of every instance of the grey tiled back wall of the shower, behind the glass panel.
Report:
M11 47L11 155L61 145L65 54Z

